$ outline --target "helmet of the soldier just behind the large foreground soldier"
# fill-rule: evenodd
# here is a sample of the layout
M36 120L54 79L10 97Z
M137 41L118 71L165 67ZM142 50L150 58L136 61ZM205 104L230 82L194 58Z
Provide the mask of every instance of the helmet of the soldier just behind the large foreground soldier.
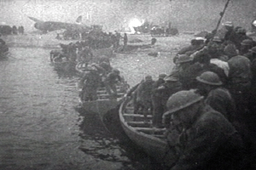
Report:
M206 71L201 73L200 77L196 77L198 82L202 82L209 85L219 86L222 85L222 82L219 80L219 77L216 73L212 71Z

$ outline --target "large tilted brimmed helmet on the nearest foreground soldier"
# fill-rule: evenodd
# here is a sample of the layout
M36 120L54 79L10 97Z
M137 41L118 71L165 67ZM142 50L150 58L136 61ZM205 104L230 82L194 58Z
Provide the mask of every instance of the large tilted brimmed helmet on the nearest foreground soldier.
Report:
M195 94L195 90L179 91L176 94L172 94L172 96L167 100L167 112L170 114L175 111L182 110L189 105L193 105L196 102L199 102L203 98L203 96Z

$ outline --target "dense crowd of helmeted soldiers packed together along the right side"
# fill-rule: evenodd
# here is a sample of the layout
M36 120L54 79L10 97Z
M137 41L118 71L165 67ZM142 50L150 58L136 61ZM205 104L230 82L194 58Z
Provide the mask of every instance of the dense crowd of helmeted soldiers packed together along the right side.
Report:
M134 114L166 127L177 169L255 169L256 43L246 30L224 24L191 40L174 57L170 75L147 76L131 88Z

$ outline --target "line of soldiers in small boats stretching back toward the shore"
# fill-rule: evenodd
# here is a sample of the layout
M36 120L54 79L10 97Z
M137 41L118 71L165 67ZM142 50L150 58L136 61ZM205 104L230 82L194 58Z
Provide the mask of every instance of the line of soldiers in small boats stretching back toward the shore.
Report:
M98 35L98 37L94 38L95 35ZM106 34L104 33L104 35ZM104 52L100 56L93 54L95 49L109 48L111 45L113 45L113 48L110 50L119 47L119 42L113 41L110 43L107 41L108 38L104 41L104 37L106 36L99 36L99 33L90 34L85 38L85 41L70 42L69 44L61 43L61 50L50 51L50 60L53 62L65 61L84 65L79 80L79 86L82 87L79 94L81 101L96 100L97 89L101 87L106 88L110 99L116 99L118 97L116 84L117 82L124 82L124 79L119 75L119 70L110 65L109 56L104 55ZM109 34L108 37L116 36ZM125 37L127 43L127 35Z

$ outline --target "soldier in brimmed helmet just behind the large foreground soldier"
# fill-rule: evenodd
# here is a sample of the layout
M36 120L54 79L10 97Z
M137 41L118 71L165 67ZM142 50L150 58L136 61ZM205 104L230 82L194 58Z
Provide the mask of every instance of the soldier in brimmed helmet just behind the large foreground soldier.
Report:
M196 77L198 93L206 99L207 105L222 113L230 122L234 122L236 115L236 104L228 89L224 88L223 82L218 75L212 71L205 71ZM237 120L237 117L236 117Z

